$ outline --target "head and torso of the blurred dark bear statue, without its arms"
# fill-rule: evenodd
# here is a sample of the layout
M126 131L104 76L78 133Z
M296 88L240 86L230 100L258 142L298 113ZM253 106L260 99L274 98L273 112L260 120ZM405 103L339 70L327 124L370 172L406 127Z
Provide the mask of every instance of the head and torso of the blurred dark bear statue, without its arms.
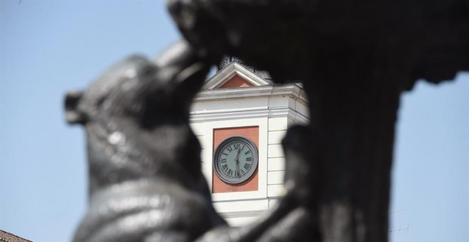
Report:
M127 58L85 92L68 93L66 117L85 126L90 169L74 241L193 241L225 224L188 123L207 68L181 41L156 63Z

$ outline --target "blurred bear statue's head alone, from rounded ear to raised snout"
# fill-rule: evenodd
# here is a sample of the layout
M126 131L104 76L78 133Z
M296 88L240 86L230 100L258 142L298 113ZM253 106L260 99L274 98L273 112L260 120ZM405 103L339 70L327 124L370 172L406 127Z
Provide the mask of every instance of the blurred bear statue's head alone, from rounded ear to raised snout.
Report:
M183 41L156 61L131 56L85 92L68 93L66 118L82 125L103 116L131 118L148 129L164 122L188 122L190 102L206 74L207 65Z

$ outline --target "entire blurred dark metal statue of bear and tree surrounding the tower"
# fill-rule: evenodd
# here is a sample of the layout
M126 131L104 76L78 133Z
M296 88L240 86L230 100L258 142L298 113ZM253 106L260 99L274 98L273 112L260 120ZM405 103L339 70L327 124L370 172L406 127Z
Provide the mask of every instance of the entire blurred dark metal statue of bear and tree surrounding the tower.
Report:
M85 125L90 209L75 241L387 241L399 96L469 70L469 1L170 0L188 43L129 58L67 118ZM210 64L242 58L303 80L311 124L284 139L287 192L227 227L200 172L190 101Z

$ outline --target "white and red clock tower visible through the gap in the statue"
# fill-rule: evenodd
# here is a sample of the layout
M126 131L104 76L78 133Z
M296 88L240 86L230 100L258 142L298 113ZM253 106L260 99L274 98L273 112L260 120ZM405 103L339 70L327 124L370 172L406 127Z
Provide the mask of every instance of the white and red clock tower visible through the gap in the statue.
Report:
M268 73L225 58L190 113L215 209L231 226L254 221L284 192L281 140L308 122L301 84L273 85Z

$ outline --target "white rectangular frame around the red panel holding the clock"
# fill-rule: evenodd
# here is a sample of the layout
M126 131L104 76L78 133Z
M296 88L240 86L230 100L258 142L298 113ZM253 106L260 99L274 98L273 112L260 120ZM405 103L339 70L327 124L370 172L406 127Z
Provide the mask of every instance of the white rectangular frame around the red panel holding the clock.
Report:
M220 120L204 123L204 137L202 139L202 171L206 175L207 182L212 191L212 158L213 158L213 130L218 128L230 127L259 127L259 162L257 164L258 172L258 190L257 191L234 191L227 193L212 194L213 201L234 201L245 199L265 199L267 197L267 144L268 144L268 117L247 118L242 120Z

